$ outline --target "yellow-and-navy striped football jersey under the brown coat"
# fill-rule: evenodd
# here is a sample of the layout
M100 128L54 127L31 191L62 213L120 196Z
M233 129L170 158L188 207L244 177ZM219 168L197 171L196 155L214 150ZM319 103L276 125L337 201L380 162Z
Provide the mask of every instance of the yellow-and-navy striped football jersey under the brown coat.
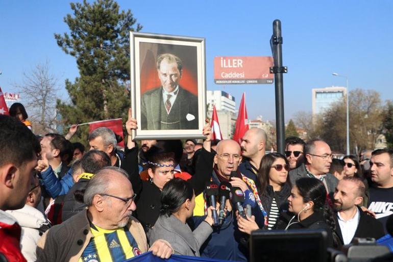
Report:
M127 227L106 230L90 224L93 237L78 262L117 262L141 254Z

